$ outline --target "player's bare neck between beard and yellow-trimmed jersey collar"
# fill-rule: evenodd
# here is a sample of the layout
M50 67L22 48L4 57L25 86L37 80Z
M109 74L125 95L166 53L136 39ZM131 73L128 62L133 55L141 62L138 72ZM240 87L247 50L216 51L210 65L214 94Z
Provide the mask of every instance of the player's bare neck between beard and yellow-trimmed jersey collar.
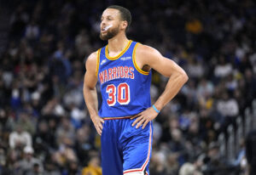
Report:
M128 42L125 35L117 35L108 40L108 52L121 52Z

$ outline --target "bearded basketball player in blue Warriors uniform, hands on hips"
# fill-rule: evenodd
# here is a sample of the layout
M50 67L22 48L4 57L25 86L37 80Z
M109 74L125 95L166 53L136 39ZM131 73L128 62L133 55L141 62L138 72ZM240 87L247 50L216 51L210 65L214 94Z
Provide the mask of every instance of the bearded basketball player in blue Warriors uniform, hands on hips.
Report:
M149 174L152 120L177 94L188 76L156 49L127 39L128 9L110 6L102 14L100 37L108 45L90 54L84 76L84 99L102 141L103 175ZM165 91L151 105L151 69L168 76ZM96 82L101 84L98 111Z

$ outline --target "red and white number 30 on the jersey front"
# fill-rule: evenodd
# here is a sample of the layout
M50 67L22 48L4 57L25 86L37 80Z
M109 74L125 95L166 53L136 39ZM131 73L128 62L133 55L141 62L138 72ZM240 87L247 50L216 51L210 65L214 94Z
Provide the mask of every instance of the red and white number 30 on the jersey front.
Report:
M117 88L113 84L109 84L106 92L108 93L107 102L109 106L116 104L116 99L119 104L129 104L130 102L130 87L125 82L120 83Z

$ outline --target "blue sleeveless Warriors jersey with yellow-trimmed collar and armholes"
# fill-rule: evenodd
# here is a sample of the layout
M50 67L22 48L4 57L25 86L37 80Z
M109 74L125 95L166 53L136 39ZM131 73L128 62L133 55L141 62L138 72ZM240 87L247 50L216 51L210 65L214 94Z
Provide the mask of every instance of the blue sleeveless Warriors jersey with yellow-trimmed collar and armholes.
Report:
M108 45L98 50L96 76L102 91L99 116L131 116L151 106L151 71L137 66L138 44L130 40L116 57L108 56Z

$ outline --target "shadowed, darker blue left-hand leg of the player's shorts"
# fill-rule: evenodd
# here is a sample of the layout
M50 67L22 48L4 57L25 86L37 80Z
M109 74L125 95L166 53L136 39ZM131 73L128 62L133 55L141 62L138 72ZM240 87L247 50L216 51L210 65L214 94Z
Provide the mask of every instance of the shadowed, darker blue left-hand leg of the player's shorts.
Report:
M118 126L113 121L105 121L102 129L102 175L119 175L123 173L123 161L116 135Z

